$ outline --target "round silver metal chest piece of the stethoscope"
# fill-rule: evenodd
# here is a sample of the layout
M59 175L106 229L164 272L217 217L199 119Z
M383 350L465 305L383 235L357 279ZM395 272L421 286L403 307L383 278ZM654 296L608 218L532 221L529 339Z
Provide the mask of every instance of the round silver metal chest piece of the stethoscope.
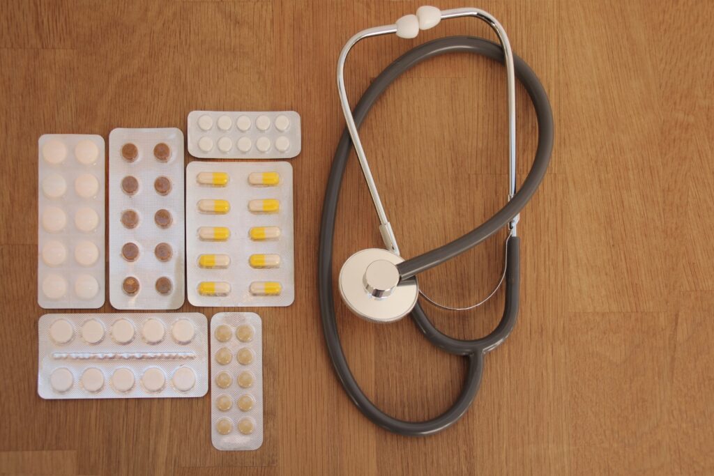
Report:
M340 293L356 315L391 323L411 312L419 297L416 279L399 282L396 265L404 259L382 248L351 255L340 270Z

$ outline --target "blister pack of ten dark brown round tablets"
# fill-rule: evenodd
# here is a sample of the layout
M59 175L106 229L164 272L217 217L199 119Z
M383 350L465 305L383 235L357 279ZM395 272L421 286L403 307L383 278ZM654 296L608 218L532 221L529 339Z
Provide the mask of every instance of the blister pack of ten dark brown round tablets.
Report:
M109 302L178 309L185 295L183 133L109 134Z

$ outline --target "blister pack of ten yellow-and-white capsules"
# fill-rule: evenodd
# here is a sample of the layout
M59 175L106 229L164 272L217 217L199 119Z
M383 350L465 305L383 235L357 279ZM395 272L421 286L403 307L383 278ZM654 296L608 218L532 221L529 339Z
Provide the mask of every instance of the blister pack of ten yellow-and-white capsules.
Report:
M287 306L295 298L293 168L193 161L186 167L188 301Z

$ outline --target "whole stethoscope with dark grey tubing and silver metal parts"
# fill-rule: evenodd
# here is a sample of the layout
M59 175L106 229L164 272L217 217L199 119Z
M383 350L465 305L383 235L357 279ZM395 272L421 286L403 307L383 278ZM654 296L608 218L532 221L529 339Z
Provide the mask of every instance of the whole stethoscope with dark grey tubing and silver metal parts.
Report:
M362 39L372 36L396 34L401 38L415 38L420 30L431 29L442 19L473 16L486 21L496 31L501 46L486 39L470 36L452 36L437 39L408 51L394 61L371 83L351 111L344 83L344 64L349 51ZM446 53L471 52L487 56L506 64L508 81L508 203L481 226L451 243L427 253L404 260L399 255L396 236L388 221L386 211L372 176L369 163L358 133L358 126L369 109L386 88L404 71L426 59ZM531 171L518 191L516 190L516 78L523 84L533 101L538 118L538 149ZM337 87L346 121L338 148L333 158L323 206L320 253L318 261L318 290L320 308L328 352L343 388L364 415L377 425L402 435L430 435L453 425L461 418L476 396L483 372L483 356L503 343L513 330L518 316L520 281L520 238L517 236L521 210L531 200L533 193L545 176L553 148L553 116L548 96L537 76L528 65L511 51L506 31L498 21L480 9L463 8L440 11L433 6L420 7L416 15L406 15L396 24L377 26L360 31L343 47L337 64ZM332 254L337 201L342 185L346 162L354 147L379 218L385 248L368 248L351 255L343 264L338 278L338 288L343 301L353 313L376 323L391 323L411 313L417 327L433 345L448 353L463 355L468 359L466 380L461 394L442 415L431 420L408 422L382 412L364 395L350 371L338 335L333 301ZM441 333L419 305L420 290L416 275L455 258L473 248L489 236L506 227L505 258L501 280L486 299L466 308L454 308L431 303L453 310L473 309L491 298L505 283L506 300L503 317L490 334L476 340L460 340Z

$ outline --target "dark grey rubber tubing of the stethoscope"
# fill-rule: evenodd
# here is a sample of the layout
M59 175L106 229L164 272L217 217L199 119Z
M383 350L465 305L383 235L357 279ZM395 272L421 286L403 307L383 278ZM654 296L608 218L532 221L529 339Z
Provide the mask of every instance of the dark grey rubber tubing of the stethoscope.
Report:
M362 123L377 98L381 96L381 93L383 93L383 91L385 91L386 88L404 71L410 69L421 61L432 58L433 56L456 52L481 54L496 61L503 62L503 51L500 46L485 39L469 36L453 36L444 39L437 39L421 46L417 46L415 49L408 51L406 54L394 61L390 66L382 71L373 83L371 83L354 108L353 116L356 126L358 127ZM483 223L474 231L467 233L465 236L445 245L450 248L436 248L436 250L433 250L432 252L425 253L424 255L412 258L411 260L407 260L402 263L403 265L406 265L406 263L416 264L413 268L406 270L407 273L418 273L418 270L422 269L424 265L430 265L436 261L441 262L448 259L445 257L452 255L455 250L458 251L464 248L471 248L473 245L476 245L481 240L485 239L485 237L496 233L496 231L503 228L503 226L508 226L508 223L515 216L517 216L523 206L528 203L531 196L533 196L533 193L538 188L540 181L543 180L545 171L548 168L548 162L550 161L550 152L553 148L553 116L552 111L550 110L550 103L548 102L548 96L543 90L543 86L540 84L540 81L538 81L538 77L535 76L528 65L515 55L513 56L513 64L516 70L516 77L523 84L528 92L528 95L531 97L531 101L533 101L535 113L538 118L538 149L535 154L533 166L531 167L531 171L528 173L526 181L524 181L521 189L516 192L513 198L511 198L511 201L509 201L506 206L496 214L496 216L490 218L486 221L486 223ZM491 334L476 340L460 340L451 338L436 329L420 305L417 304L416 307L413 308L411 317L431 343L437 345L439 348L448 353L464 355L468 359L468 370L466 372L463 389L456 401L453 402L453 405L451 405L446 412L443 412L442 415L423 422L408 422L387 415L385 412L376 407L368 399L368 397L366 397L366 395L364 395L353 377L342 349L335 315L332 289L333 238L337 203L342 186L343 174L351 148L351 137L348 130L345 130L333 158L325 193L321 221L320 250L318 255L318 295L320 300L323 333L325 335L328 353L343 388L358 409L363 412L366 417L386 430L401 435L431 435L453 425L459 418L461 418L461 416L463 416L466 410L468 410L473 398L476 396L478 385L481 381L481 373L483 372L483 356L488 353L488 351L493 350L493 348L496 348L496 346L503 342L503 340L508 337L508 334L511 333L513 325L516 323L516 318L518 316L518 288L520 275L520 238L516 236L508 238L506 308L504 309L501 322ZM431 255L431 253L436 253L436 255Z

